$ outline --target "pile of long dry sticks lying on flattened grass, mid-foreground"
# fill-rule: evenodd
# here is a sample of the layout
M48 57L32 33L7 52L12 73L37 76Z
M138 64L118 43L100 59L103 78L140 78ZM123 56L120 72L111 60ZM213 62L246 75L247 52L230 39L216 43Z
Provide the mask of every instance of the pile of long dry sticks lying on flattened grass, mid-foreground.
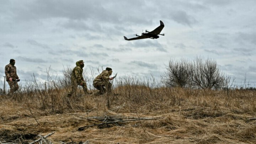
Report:
M84 117L80 117L84 118ZM97 122L97 124L92 124L89 126L83 126L78 128L78 130L84 130L88 127L98 126L98 128L106 128L112 126L122 126L123 122L128 121L141 121L141 120L151 120L151 119L159 119L159 117L155 118L135 118L135 117L121 117L121 116L104 116L104 117L86 117L84 119L88 119L89 121Z

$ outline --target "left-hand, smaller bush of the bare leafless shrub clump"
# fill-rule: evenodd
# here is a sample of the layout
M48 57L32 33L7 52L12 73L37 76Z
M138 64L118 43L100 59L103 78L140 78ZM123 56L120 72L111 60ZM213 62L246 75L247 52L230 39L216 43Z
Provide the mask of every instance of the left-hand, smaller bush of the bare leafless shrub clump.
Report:
M161 81L168 87L186 87L189 83L189 63L185 59L170 60Z

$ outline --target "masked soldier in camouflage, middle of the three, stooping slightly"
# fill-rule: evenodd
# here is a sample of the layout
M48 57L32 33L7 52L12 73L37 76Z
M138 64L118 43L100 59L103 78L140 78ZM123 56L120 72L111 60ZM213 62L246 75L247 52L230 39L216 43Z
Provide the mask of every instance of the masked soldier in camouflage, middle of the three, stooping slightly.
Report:
M71 74L71 91L68 93L68 97L74 95L76 96L76 89L77 86L80 85L82 86L84 90L84 94L89 94L87 91L87 85L86 82L82 76L83 68L84 67L84 61L79 60L76 62L76 67L73 69L72 74Z

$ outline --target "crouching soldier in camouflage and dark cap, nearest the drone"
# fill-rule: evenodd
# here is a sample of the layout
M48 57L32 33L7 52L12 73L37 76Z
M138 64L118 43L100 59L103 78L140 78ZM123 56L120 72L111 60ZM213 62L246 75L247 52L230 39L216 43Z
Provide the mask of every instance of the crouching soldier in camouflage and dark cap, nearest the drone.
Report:
M102 95L102 94L105 94L106 92L111 92L112 84L109 82L109 80L113 80L113 78L109 77L111 74L112 74L112 69L106 68L106 70L103 70L102 73L94 79L93 86L97 90L100 90L99 92L97 92L97 95Z

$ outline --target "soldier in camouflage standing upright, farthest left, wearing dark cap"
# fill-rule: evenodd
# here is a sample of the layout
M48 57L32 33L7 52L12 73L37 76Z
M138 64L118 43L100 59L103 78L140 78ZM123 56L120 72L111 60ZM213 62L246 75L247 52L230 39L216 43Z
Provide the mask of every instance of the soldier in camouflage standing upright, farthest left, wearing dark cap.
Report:
M14 65L15 65L15 60L10 59L10 64L7 64L5 66L6 81L10 86L9 95L13 94L19 88L17 81L20 81L20 79L18 78L16 66Z

